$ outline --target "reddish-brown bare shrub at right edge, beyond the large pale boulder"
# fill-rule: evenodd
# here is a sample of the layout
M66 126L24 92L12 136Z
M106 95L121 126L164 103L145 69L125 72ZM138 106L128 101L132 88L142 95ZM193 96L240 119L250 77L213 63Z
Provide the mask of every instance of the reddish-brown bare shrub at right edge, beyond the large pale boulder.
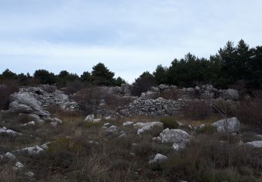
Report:
M254 98L242 100L238 106L238 119L241 123L259 127L262 130L262 90Z

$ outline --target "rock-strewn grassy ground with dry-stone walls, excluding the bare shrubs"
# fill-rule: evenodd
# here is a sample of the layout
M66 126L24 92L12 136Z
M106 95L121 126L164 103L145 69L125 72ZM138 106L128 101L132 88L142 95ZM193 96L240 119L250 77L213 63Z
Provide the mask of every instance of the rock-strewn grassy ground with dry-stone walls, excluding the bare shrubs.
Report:
M231 115L189 119L177 109L189 99L145 94L114 116L85 116L56 88L22 88L0 114L0 181L262 181L261 134Z

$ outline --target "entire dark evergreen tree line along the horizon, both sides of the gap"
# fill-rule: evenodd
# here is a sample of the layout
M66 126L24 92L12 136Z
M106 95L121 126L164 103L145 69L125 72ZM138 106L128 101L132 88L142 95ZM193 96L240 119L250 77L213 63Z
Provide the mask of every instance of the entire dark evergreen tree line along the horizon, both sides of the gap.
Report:
M21 85L30 85L32 80L41 84L56 84L65 87L68 82L75 80L94 85L115 86L126 83L121 78L114 78L115 73L103 63L96 64L92 72L85 71L78 76L75 73L61 71L55 75L44 69L29 73L16 74L6 69L0 74L0 79L16 79ZM209 58L198 58L190 52L182 59L175 58L170 66L159 64L155 71L145 71L133 83L139 92L147 90L152 85L177 85L179 87L194 87L210 83L218 88L242 85L250 89L262 88L262 46L249 48L242 39L237 45L228 41L224 48L220 48Z

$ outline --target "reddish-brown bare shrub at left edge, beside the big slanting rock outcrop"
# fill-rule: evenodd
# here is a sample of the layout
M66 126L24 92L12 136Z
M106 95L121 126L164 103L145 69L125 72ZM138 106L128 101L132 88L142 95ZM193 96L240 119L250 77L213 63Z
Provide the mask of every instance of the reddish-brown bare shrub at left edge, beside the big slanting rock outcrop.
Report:
M18 90L19 84L16 80L6 80L0 83L0 110L8 109L10 94L17 92Z

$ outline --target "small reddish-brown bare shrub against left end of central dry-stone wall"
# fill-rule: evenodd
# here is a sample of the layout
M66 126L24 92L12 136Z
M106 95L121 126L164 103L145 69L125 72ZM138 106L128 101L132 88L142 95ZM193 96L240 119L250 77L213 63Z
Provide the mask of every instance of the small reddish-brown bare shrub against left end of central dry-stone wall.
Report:
M131 97L119 97L117 95L108 94L105 97L105 109L108 110L117 110L120 109L133 101Z

